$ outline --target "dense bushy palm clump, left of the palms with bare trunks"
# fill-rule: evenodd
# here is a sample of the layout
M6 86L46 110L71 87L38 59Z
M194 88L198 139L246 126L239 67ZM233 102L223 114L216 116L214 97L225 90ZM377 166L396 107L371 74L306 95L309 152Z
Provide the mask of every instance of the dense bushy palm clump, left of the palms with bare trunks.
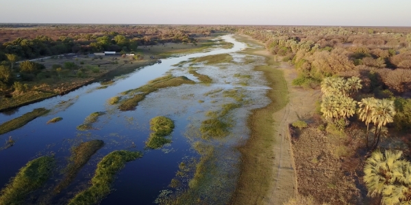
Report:
M356 113L357 101L351 96L362 88L358 77L327 77L321 82L321 112L328 120L346 120Z

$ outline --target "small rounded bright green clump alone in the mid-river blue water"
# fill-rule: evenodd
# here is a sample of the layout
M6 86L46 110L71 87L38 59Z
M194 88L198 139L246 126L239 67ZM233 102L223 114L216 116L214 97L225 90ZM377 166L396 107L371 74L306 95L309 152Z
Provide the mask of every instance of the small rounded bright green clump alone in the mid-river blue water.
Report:
M171 143L171 139L166 136L173 132L174 122L170 118L164 116L157 116L150 120L150 129L154 133L150 134L146 141L147 148L157 149L164 146L166 143Z

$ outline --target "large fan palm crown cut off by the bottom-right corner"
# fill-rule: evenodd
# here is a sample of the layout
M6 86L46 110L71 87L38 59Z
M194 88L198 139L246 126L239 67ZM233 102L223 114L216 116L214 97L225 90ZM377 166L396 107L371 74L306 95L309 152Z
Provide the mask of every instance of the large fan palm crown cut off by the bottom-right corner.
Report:
M382 204L411 204L411 163L401 155L399 150L377 150L364 165L368 194L382 196Z

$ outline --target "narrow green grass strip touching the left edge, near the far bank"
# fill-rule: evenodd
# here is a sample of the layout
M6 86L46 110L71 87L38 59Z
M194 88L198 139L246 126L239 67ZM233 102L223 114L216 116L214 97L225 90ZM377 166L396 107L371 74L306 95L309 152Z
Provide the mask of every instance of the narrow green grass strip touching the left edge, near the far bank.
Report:
M31 112L25 113L18 118L14 118L9 120L8 122L4 122L0 125L0 135L4 133L8 133L10 131L14 131L16 128L21 128L25 124L29 123L30 121L48 113L49 110L45 108L37 108Z

